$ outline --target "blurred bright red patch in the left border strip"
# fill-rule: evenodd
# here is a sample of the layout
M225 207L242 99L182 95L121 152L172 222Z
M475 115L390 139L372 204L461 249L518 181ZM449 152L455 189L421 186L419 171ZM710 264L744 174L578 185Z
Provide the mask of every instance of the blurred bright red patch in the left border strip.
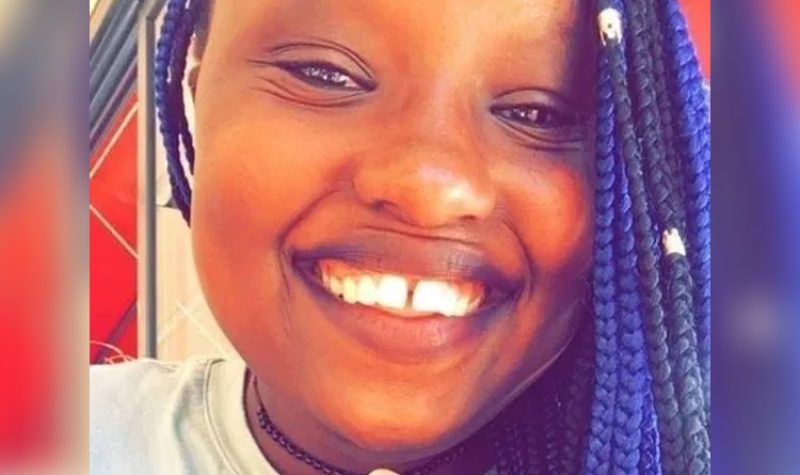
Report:
M52 124L50 124L52 125ZM51 454L65 333L62 276L68 194L63 137L50 125L23 140L0 192L0 472ZM35 137L35 138L34 138ZM10 176L9 176L10 175ZM75 317L74 313L69 317Z

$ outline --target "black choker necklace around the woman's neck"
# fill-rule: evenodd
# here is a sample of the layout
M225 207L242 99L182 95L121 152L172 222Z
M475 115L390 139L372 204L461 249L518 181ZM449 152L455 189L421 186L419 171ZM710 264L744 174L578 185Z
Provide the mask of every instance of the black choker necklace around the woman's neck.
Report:
M253 387L256 391L256 401L258 403L258 408L256 408L258 425L264 430L264 432L269 434L269 436L272 437L272 440L274 440L278 445L280 445L281 448L286 451L286 453L293 456L297 460L300 460L301 462L305 463L309 467L312 467L317 472L324 473L325 475L363 475L360 473L344 470L329 463L323 462L322 460L314 457L305 450L301 449L297 444L292 442L288 437L286 437L283 434L283 432L280 431L280 429L278 429L275 426L275 423L272 422L272 419L269 418L267 410L264 409L264 404L261 402L261 394L259 394L258 392L258 381L255 379L255 377L253 377ZM450 463L454 458L463 454L464 451L465 451L464 444L463 443L458 444L452 449L437 455L427 463L417 468L411 469L407 472L404 472L404 474L429 475L442 465Z

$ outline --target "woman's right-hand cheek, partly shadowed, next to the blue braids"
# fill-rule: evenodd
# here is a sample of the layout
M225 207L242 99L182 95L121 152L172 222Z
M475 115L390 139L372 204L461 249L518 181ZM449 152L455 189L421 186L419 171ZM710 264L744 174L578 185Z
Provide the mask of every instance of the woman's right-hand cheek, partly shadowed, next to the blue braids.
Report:
M587 171L574 162L528 165L525 171L509 169L504 182L510 190L504 196L507 219L533 275L518 318L502 335L496 360L502 397L518 394L565 348L583 315L591 264L593 195Z

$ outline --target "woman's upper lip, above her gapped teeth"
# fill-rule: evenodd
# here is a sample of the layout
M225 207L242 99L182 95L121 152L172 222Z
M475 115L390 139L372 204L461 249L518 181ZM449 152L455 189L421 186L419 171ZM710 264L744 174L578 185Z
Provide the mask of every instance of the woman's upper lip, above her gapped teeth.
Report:
M505 296L519 287L518 279L506 275L481 249L446 239L366 230L292 253L293 264L306 272L321 259L341 260L378 273L479 282Z

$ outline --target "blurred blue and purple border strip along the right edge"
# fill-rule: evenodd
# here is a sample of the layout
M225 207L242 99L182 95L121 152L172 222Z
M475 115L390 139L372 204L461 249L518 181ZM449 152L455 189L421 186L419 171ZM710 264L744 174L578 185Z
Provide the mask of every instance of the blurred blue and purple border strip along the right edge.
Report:
M715 472L800 473L800 5L714 2Z

